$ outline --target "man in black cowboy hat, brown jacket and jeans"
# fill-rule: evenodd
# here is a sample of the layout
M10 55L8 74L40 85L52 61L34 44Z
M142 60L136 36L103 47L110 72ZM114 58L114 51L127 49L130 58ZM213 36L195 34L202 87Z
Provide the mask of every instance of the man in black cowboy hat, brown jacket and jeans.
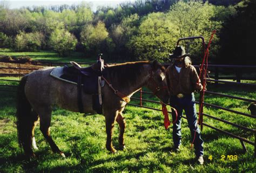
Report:
M185 52L183 46L177 46L170 59L174 60L173 65L166 69L167 83L170 90L170 106L177 110L178 117L176 123L173 124L173 143L174 151L180 150L181 145L181 115L185 110L188 127L191 132L191 139L194 139L194 148L196 153L196 161L199 164L204 163L203 143L200 137L200 129L197 126L197 111L194 103L194 91L203 89L200 83L196 68L191 65L188 57L189 53ZM199 81L199 82L198 82ZM172 114L173 120L176 116ZM196 134L195 134L196 132ZM194 137L196 135L196 137Z

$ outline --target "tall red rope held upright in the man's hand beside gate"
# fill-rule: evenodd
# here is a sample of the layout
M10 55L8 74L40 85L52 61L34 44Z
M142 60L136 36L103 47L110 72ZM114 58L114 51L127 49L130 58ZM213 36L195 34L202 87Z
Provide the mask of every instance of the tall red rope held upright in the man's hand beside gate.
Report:
M210 48L210 45L212 43L213 35L215 33L216 33L216 30L213 30L212 34L211 34L211 38L210 38L209 43L207 45L207 48L206 48L206 50L204 52L204 58L203 58L203 61L202 61L201 67L200 67L199 78L198 78L198 81L197 81L197 84L199 84L200 77L203 74L203 81L202 81L203 82L202 83L203 84L203 94L201 94L201 98L200 98L201 103L200 103L200 106L199 106L199 112L198 112L199 115L198 115L198 121L197 121L198 124L202 124L202 126L201 126L202 128L203 128L203 102L204 102L205 86L206 86L206 78L205 77L206 77L206 70L208 68L209 48ZM205 59L206 59L206 63L205 63ZM205 70L204 70L204 73L202 73L203 72L203 68L204 68L204 64L205 64ZM196 129L197 129L197 126L196 126ZM191 149L193 147L194 140L196 140L196 134L197 134L196 133L197 132L196 129L194 130L194 139L193 139L193 141L191 143Z

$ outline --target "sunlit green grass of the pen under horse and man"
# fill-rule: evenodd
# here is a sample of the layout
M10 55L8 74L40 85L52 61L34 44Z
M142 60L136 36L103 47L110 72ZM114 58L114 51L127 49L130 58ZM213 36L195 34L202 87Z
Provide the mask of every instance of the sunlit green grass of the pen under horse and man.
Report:
M6 78L5 78L6 79ZM17 79L17 78L7 78ZM1 81L0 81L1 82ZM2 84L14 84L3 82ZM256 98L252 88L233 88L208 86L209 91ZM190 131L185 119L182 120L183 146L180 153L171 149L172 128L165 130L163 115L155 110L127 106L125 143L126 150L110 154L105 149L105 122L102 115L84 115L56 108L52 114L51 135L58 147L64 151L66 158L53 154L46 143L39 127L35 129L39 150L37 158L27 161L20 152L15 127L16 93L0 92L0 172L256 172L253 159L254 148L246 144L248 152L242 154L240 141L221 134L211 128L204 127L202 138L205 141L205 164L194 164L194 153L190 149ZM138 95L138 94L137 94ZM135 95L136 96L136 95ZM198 98L198 94L196 94ZM143 95L145 99L156 98ZM240 112L248 113L248 103L219 96L206 95L205 101L225 106ZM138 103L138 101L132 101ZM143 103L145 106L160 108L154 103ZM242 115L205 107L204 112L213 116L255 129L255 121ZM214 127L254 141L252 133L239 130L230 125L204 117L204 121ZM113 144L118 146L118 125L114 127ZM237 161L225 159L221 155L237 155ZM208 157L212 156L212 161Z

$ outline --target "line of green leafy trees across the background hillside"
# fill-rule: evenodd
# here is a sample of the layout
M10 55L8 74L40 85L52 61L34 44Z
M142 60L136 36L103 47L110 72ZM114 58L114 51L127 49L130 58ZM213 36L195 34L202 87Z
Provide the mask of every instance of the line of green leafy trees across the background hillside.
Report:
M79 5L9 9L0 4L0 47L14 51L72 51L85 56L104 53L108 60L153 60L167 63L181 37L204 36L216 29L211 63L255 64L256 3L253 0L138 0L93 12ZM184 41L195 64L201 60L200 40ZM246 61L241 61L246 59Z

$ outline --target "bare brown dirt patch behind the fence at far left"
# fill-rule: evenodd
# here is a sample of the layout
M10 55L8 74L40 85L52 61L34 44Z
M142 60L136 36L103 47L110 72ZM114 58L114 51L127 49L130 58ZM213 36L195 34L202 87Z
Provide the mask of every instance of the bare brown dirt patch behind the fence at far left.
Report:
M8 68L1 68L1 67L8 67ZM15 68L15 69L12 69L12 68ZM19 69L19 68L29 68L29 69L25 70L25 69ZM44 66L32 65L31 63L16 64L16 63L0 62L0 73L4 73L4 74L27 74L40 68L44 68Z

